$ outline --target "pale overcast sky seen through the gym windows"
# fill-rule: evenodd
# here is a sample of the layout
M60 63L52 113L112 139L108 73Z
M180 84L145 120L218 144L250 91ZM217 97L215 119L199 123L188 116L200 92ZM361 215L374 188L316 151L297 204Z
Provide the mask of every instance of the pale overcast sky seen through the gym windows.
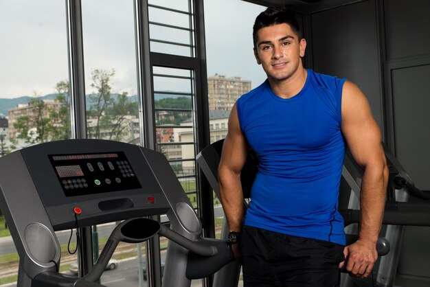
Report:
M175 9L187 3L151 2ZM265 75L253 58L251 34L264 7L241 0L204 5L207 75L240 76L256 87ZM82 19L86 92L93 69L114 69L113 91L136 93L133 1L82 0ZM0 98L55 93L56 83L68 80L65 1L0 0L0 38Z

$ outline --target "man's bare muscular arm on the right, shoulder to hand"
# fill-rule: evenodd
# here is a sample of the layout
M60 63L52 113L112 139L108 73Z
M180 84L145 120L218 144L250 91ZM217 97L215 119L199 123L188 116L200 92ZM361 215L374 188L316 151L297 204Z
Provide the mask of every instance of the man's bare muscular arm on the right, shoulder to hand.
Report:
M360 192L361 222L359 240L346 246L346 270L368 277L378 259L376 242L385 206L388 170L378 128L365 95L352 82L342 90L341 130L354 160L363 168ZM339 265L341 268L345 264Z

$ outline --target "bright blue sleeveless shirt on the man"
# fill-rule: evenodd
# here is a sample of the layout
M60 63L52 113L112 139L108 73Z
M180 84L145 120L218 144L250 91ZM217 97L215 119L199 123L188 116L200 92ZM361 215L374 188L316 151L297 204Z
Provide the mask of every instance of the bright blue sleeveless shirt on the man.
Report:
M240 128L259 160L244 224L345 244L337 207L346 80L307 71L291 98L275 95L266 80L237 101Z

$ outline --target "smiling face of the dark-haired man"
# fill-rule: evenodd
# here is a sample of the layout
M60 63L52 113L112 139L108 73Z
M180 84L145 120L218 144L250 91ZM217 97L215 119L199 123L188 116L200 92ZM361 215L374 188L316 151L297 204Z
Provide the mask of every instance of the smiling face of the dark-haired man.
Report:
M306 41L299 41L290 25L283 23L258 30L254 54L269 80L282 81L288 80L302 65L305 48Z

